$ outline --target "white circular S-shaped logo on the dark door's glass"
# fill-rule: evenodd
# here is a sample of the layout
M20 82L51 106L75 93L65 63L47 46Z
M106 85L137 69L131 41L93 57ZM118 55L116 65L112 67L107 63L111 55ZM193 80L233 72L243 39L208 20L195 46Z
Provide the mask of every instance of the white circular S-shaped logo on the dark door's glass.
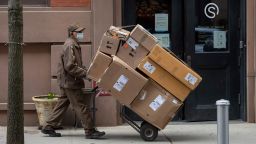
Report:
M206 17L213 19L219 14L219 7L215 3L208 3L204 8L204 14Z

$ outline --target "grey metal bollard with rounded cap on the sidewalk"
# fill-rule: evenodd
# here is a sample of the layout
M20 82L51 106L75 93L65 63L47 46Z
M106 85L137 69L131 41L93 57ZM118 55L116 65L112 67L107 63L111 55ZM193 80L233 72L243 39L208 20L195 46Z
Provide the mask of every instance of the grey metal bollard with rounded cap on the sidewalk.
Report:
M217 133L218 144L229 144L229 105L228 100L218 100L217 105Z

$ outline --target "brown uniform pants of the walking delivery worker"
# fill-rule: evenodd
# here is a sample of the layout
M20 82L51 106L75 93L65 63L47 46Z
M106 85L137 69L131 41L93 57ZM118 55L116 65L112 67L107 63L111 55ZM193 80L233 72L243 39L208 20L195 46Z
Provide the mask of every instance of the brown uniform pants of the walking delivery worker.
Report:
M67 111L69 104L72 105L76 115L82 121L85 130L93 128L93 121L90 113L91 95L85 95L81 89L66 89L61 88L61 96L53 109L49 120L44 126L58 125Z

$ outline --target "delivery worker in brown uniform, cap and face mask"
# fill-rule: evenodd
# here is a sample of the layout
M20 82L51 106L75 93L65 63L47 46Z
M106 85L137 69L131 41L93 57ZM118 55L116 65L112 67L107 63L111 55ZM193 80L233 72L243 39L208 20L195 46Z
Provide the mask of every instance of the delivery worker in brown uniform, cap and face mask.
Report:
M86 78L87 70L82 65L81 47L78 42L83 40L84 29L76 24L68 27L68 39L65 41L60 55L57 75L61 97L41 130L42 133L51 137L61 136L60 133L55 132L54 126L61 121L69 104L80 118L86 138L97 139L105 135L105 132L99 132L93 126L90 113L91 97L84 95L82 91L84 88L83 78Z

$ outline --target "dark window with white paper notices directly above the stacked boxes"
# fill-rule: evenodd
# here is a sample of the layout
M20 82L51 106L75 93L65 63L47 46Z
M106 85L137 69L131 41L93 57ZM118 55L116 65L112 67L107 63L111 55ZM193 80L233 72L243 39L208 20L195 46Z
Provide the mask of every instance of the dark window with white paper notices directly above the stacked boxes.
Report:
M162 47L169 49L170 5L169 0L136 0L136 24L141 24L159 40Z

